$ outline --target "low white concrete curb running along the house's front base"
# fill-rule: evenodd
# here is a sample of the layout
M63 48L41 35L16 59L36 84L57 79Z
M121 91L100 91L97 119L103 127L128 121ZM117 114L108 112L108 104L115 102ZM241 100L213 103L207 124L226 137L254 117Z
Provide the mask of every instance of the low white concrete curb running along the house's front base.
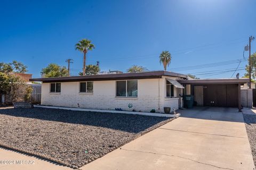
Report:
M58 106L43 106L43 105L34 105L34 107L65 109L65 110L70 110L70 111L86 111L86 112L101 112L101 113L123 113L123 114L144 115L144 116L172 117L172 118L177 118L177 117L180 116L179 113L173 115L173 114L163 114L163 113L111 111L111 110L101 110L101 109L87 109L87 108L75 108L75 107L58 107Z

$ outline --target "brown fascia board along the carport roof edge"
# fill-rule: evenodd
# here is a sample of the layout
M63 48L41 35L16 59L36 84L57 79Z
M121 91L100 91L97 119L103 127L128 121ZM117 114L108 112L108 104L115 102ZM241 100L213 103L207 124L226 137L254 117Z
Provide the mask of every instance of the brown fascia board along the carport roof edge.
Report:
M204 79L204 80L177 80L181 84L244 84L249 79Z

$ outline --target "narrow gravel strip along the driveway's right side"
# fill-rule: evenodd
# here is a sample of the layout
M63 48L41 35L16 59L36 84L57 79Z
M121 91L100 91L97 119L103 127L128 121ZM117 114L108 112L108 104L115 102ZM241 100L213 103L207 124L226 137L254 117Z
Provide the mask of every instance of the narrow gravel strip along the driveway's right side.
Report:
M251 145L254 165L256 165L256 115L243 114L245 128Z

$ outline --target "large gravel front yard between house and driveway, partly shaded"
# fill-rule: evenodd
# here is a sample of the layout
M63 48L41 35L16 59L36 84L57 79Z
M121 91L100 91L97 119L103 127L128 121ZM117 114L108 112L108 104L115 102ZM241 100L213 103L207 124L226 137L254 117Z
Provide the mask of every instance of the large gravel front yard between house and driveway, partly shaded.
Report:
M142 115L7 108L0 109L0 144L81 167L169 121Z

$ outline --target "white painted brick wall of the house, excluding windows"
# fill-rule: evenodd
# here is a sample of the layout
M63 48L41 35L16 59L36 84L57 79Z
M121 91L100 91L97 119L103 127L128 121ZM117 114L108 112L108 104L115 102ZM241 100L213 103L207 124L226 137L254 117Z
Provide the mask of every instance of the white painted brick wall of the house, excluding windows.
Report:
M158 90L159 81L159 90ZM42 83L42 105L78 107L91 109L110 109L116 107L124 111L163 113L163 107L178 109L178 98L165 98L165 79L138 80L138 98L115 97L116 81L94 81L93 94L79 93L79 82L61 82L61 92L50 93L50 83ZM158 95L159 94L159 95ZM174 94L176 94L174 89ZM133 107L129 108L128 105ZM158 110L159 103L159 110Z

